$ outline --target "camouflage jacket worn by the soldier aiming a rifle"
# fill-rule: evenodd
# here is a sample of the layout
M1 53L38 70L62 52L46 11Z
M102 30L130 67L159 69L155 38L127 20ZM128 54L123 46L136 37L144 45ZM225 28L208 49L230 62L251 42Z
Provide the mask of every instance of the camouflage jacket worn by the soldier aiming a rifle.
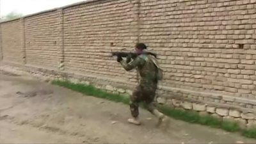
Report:
M120 63L127 71L136 68L140 74L140 84L144 86L155 86L157 84L157 67L154 65L150 56L148 54L141 54L130 63L127 63L125 60L120 61Z

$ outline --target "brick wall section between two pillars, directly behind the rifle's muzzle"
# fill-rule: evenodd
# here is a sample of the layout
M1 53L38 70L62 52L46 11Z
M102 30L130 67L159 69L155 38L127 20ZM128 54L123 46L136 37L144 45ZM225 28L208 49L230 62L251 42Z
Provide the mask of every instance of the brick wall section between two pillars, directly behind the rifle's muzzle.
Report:
M96 1L63 10L65 70L108 77L134 77L106 55L111 50L132 50L134 1ZM113 45L111 45L111 43ZM105 56L105 57L104 57Z

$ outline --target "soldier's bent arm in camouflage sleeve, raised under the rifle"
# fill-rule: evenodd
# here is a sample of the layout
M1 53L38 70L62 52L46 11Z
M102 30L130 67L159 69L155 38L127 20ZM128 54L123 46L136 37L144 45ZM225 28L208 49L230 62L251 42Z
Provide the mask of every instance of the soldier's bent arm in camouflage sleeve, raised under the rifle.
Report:
M125 60L120 61L120 63L125 70L129 71L133 68L143 65L145 63L145 60L138 56L135 60L131 61L130 63L127 63Z

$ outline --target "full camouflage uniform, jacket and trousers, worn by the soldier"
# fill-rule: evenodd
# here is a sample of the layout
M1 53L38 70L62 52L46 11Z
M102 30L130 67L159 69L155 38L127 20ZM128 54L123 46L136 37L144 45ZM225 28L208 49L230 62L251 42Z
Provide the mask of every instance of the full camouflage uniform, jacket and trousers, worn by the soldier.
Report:
M130 63L127 63L125 60L120 61L120 63L127 71L137 68L140 74L140 83L136 86L131 96L130 109L132 116L136 118L139 115L139 102L145 102L148 111L153 113L154 109L156 109L154 106L154 97L157 89L157 67L151 60L151 55L141 54Z

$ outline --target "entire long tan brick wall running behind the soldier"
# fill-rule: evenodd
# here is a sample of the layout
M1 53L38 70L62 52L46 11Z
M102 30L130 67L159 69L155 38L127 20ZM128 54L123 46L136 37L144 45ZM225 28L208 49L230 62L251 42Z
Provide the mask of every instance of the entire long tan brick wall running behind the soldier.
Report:
M3 61L24 58L124 92L118 87L132 88L136 73L107 52L145 42L164 68L165 102L221 116L230 108L256 113L255 10L255 0L86 1L1 23Z

